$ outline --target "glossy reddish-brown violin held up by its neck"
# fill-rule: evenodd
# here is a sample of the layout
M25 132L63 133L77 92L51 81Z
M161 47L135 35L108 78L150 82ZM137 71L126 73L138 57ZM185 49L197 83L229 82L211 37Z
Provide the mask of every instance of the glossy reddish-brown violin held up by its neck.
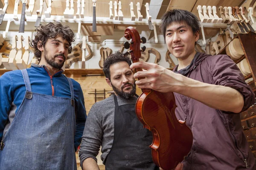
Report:
M144 37L133 27L125 29L125 38L131 42L125 42L126 49L130 48L124 55L131 54L133 62L138 62L141 51L140 43L145 43ZM135 71L142 71L136 68ZM139 79L143 79L140 77ZM143 93L136 102L136 114L144 128L153 134L151 147L154 163L163 170L172 170L189 153L193 136L185 123L178 122L175 116L175 96L172 92L161 93L151 89L142 89Z

